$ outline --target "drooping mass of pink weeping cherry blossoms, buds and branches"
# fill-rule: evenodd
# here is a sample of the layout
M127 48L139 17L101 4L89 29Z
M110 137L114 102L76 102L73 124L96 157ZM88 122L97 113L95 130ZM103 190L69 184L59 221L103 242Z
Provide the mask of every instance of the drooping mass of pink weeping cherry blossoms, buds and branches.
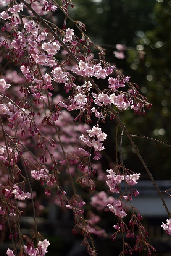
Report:
M73 212L72 232L82 234L82 244L87 246L89 255L97 255L91 235L106 235L96 225L100 217L93 213L94 208L118 217L118 223L113 226L117 230L111 236L113 241L118 233L126 233L127 238L137 234L134 248L123 240L121 255L140 253L143 248L151 255L155 249L146 242L148 232L133 206L134 196L139 195L134 185L140 173L126 169L121 149L121 163L117 158L116 166L107 170L108 174L98 162L108 139L101 125L106 118L115 119L124 132L118 113L133 109L145 115L151 104L139 93L139 87L130 82L129 76L105 61L105 50L86 36L82 22L73 21L73 28L67 28L68 5L74 8L71 0L62 1L61 6L52 0L1 2L0 230L5 231L9 225L9 238L14 245L16 242L6 254L14 256L18 250L19 254L29 256L47 253L50 241L37 228L36 192L32 191L32 184L40 183L45 198L52 196L55 203ZM56 10L65 16L62 28L53 16ZM93 47L99 50L99 60L91 54ZM118 44L116 48L115 55L124 58L125 47ZM103 79L103 89L98 87L99 79ZM64 190L63 180L69 180L72 195ZM106 191L95 191L97 181L104 182ZM86 203L77 194L76 182L91 191L92 211L88 220L84 215ZM124 191L122 184L125 184ZM25 201L33 208L33 237L20 230ZM129 225L124 222L128 215L131 216ZM162 227L171 234L170 220Z

